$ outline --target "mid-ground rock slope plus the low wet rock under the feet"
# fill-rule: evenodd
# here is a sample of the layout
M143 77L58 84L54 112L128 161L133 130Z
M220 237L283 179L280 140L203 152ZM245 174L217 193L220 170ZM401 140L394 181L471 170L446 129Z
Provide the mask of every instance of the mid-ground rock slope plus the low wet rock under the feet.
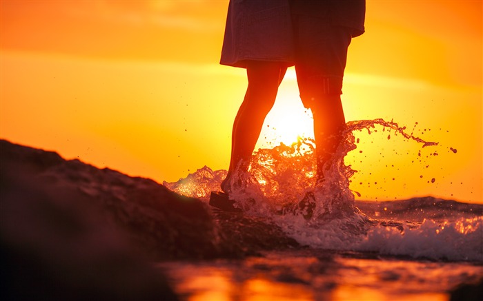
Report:
M0 149L2 208L15 204L18 216L11 225L25 225L17 231L2 222L2 231L11 236L34 233L47 238L61 229L74 231L78 225L69 222L80 216L86 220L75 231L96 233L97 226L92 225L110 227L151 261L240 258L298 246L263 218L214 212L204 201L175 194L147 178L64 160L55 152L8 141L0 141ZM10 214L2 210L5 215ZM59 223L50 225L48 220ZM57 243L75 240L77 236L69 233L56 238Z

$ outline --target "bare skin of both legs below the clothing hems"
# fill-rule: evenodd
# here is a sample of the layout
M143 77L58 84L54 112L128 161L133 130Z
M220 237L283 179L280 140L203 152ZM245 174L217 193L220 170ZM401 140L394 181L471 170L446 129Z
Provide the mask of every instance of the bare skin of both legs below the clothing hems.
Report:
M265 117L275 103L286 67L277 62L253 61L248 63L246 72L248 88L233 123L230 167L225 180L221 183L221 189L226 193L230 193L230 180L237 166L244 163L244 167L248 167ZM319 83L316 81L315 91L319 90L318 86ZM314 95L310 100L317 146L317 176L322 180L322 167L339 144L345 118L340 94L318 93L317 96L314 92L310 95Z

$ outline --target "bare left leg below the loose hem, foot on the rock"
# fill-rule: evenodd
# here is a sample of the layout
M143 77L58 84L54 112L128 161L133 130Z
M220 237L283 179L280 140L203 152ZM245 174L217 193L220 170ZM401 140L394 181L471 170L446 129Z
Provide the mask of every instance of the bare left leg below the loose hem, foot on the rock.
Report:
M250 61L246 68L248 88L242 105L239 107L232 132L232 150L228 175L221 183L221 189L230 192L230 178L237 165L248 161L262 132L265 117L275 103L279 84L286 67L281 63Z

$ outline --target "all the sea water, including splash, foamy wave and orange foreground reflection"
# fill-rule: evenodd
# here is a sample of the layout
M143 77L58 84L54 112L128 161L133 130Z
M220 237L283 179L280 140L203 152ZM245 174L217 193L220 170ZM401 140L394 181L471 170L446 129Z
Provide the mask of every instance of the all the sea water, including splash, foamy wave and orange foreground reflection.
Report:
M247 216L266 218L308 249L242 261L165 263L177 290L186 300L447 300L458 284L481 280L481 208L458 203L442 209L436 203L444 200L431 199L431 206L416 198L397 201L401 214L390 218L359 210L357 192L349 188L357 171L344 158L357 148L354 132L376 127L387 131L388 139L393 134L422 148L437 145L397 123L351 122L324 167L323 183L317 181L311 139L259 149L248 172L236 171L231 198ZM164 185L208 200L225 176L226 171L204 167ZM414 208L421 214L408 218Z

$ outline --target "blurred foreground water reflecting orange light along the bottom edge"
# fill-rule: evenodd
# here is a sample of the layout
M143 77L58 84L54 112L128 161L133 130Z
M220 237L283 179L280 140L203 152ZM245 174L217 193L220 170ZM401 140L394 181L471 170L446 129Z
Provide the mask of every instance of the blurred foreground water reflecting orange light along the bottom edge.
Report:
M319 253L317 253L319 252ZM327 251L158 265L181 300L449 300L458 284L483 277L480 264L368 258Z

